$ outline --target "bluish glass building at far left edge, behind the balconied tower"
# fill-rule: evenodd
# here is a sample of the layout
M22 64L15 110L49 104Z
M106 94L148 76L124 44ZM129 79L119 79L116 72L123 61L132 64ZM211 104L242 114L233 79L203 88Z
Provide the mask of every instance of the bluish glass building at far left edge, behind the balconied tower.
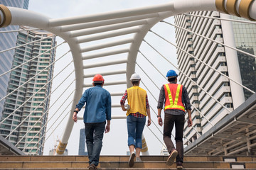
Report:
M13 6L17 8L28 9L29 0L0 0L0 4L4 6ZM0 28L0 31L18 30L19 26L8 26L6 28ZM0 51L15 47L17 41L18 32L13 33L0 33ZM11 64L14 60L14 50L9 50L0 53L0 75L11 69ZM9 82L10 74L4 74L0 77L0 100L6 96L6 90ZM4 107L4 100L0 101L0 119L1 113Z

